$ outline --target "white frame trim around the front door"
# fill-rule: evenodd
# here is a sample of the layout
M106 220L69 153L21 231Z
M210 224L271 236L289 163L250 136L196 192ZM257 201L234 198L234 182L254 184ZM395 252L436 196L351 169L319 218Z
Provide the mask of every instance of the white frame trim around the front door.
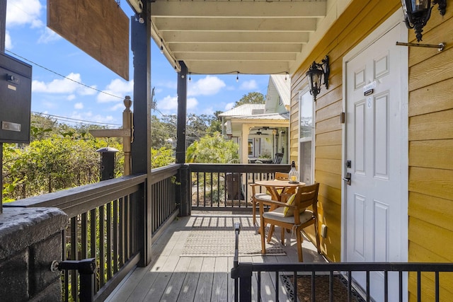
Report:
M358 54L366 50L370 45L379 40L382 36L389 32L389 30L399 26L399 40L401 42L408 41L408 29L402 20L403 11L399 8L393 15L391 15L384 23L379 25L378 28L373 30L373 32L365 37L359 44L345 54L343 57L343 112L346 112L346 103L347 103L347 64L352 59L357 57ZM395 41L396 42L396 41ZM401 74L401 124L406 125L401 129L401 150L406 150L406 152L401 152L400 162L401 162L401 190L399 192L399 198L401 200L401 260L407 261L408 259L408 48L404 47L401 49L403 52L403 57L406 57L406 60L402 60L401 70L406 70L406 73ZM341 168L341 177L346 173L345 167L345 155L346 155L346 123L342 124L343 136L342 136L342 168ZM406 215L404 215L406 214ZM346 242L347 230L346 230L346 185L342 180L341 183L341 262L345 262L347 259L347 247Z

